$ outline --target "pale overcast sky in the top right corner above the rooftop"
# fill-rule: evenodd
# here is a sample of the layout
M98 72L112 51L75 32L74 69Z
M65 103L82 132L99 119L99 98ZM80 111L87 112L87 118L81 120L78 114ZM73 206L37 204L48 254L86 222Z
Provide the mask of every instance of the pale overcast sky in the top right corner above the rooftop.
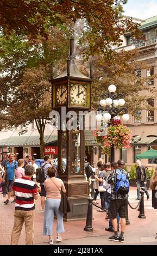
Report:
M123 6L127 16L145 20L157 15L157 0L128 0Z

